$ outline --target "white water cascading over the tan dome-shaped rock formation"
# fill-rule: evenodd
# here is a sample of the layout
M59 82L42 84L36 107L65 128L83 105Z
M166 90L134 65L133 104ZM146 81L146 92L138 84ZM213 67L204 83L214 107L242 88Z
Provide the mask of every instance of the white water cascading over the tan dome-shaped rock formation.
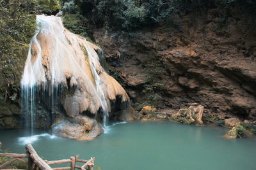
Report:
M65 29L60 17L38 15L36 22L38 29L31 39L21 80L27 127L30 122L33 134L38 105L36 97L41 97L42 103L51 110L52 124L56 105L60 104L72 118L85 111L95 115L102 113L103 127L106 128L111 101L116 101L119 96L125 103L129 97L100 66L102 51Z

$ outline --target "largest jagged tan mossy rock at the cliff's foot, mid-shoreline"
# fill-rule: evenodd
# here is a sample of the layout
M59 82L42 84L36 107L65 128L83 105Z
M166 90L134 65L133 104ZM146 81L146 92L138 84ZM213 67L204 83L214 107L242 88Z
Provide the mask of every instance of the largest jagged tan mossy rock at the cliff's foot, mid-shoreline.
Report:
M182 122L184 124L203 124L202 115L204 106L189 106L188 109L180 109L170 117L170 120Z

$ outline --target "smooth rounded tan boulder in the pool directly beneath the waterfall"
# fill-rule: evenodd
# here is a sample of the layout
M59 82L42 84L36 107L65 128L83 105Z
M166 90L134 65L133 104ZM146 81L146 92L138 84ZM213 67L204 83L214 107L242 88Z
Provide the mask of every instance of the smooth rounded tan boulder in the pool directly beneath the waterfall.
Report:
M104 131L100 124L89 117L75 117L68 120L59 121L52 127L52 133L63 138L70 139L93 139Z

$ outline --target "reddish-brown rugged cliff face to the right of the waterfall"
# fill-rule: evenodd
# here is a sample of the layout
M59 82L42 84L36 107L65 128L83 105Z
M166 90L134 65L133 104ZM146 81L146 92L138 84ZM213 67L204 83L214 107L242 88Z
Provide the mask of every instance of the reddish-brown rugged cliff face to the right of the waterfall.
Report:
M157 110L173 113L198 103L205 120L254 121L256 15L247 9L211 6L126 36L95 29L93 37L135 107L151 100Z

